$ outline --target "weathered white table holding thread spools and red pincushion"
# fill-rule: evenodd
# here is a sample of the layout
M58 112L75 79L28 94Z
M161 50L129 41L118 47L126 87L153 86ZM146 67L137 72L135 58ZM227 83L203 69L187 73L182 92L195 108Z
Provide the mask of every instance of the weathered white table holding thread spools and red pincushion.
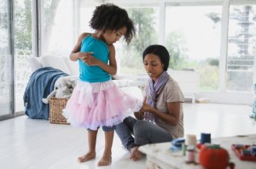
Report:
M230 161L236 164L236 169L256 169L256 161L241 161L231 149L231 144L256 144L256 134L247 136L234 136L227 138L212 138L212 144L220 144L227 149L230 154ZM195 162L198 164L187 164L186 157L182 151L172 152L169 148L171 143L147 144L139 147L139 150L147 155L146 166L148 169L202 169L198 163L198 154L196 153Z

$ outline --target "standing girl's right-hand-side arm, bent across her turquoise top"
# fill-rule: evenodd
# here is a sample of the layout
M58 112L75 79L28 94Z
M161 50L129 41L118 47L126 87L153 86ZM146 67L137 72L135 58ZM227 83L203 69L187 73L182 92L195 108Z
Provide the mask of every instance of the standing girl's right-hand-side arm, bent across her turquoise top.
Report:
M96 59L95 57L91 55L86 55L83 59L84 63L87 65L98 65L102 68L102 70L105 70L110 75L115 75L117 71L117 65L115 60L115 49L113 45L108 45L109 49L109 65L105 64L99 59ZM93 54L92 54L93 55Z

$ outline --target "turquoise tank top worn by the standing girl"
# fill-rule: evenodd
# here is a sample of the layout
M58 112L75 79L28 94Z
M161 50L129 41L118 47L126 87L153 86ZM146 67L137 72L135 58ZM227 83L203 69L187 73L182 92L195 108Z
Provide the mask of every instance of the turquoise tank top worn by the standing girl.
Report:
M80 52L93 52L92 56L96 59L102 60L105 64L108 64L108 45L91 35L84 37ZM84 82L106 82L111 79L111 76L105 70L97 65L86 65L81 59L79 59L79 79Z

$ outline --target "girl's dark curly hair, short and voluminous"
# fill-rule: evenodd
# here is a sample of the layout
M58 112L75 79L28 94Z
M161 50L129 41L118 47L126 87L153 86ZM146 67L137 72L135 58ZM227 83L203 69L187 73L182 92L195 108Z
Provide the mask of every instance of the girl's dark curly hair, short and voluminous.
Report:
M124 8L119 8L113 3L97 6L90 20L90 27L94 30L118 31L126 27L125 42L130 43L135 36L136 29Z

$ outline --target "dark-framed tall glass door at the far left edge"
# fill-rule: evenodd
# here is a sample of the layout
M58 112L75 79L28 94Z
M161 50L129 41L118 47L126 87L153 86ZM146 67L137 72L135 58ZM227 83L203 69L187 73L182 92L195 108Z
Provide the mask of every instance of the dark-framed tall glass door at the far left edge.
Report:
M23 94L31 75L32 0L1 1L0 18L0 115L8 118L24 110Z

